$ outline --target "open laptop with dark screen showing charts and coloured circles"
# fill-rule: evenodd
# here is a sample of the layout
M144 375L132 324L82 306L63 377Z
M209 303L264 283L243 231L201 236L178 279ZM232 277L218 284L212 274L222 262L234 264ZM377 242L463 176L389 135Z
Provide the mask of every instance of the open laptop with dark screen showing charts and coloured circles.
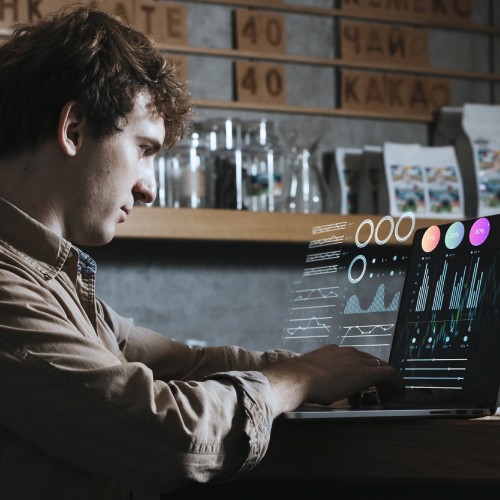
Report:
M287 419L489 416L500 387L500 215L415 232L389 364L406 394L388 405L311 405Z

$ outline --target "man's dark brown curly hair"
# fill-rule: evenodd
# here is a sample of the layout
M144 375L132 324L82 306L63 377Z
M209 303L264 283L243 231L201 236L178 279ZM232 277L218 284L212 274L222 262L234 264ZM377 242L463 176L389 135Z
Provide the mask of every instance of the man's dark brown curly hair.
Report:
M141 92L165 121L164 146L172 146L188 126L192 99L145 34L82 5L16 25L0 47L0 157L55 138L71 100L82 107L94 138L118 133Z

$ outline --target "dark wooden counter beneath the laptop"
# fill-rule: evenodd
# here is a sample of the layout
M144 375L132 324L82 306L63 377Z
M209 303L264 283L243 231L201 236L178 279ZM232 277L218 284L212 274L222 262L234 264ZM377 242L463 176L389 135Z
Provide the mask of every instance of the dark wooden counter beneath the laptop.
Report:
M376 491L373 491L373 489ZM380 488L387 494L381 495ZM495 498L500 419L275 422L268 452L246 476L168 498ZM335 493L336 492L336 493ZM378 492L378 493L377 493ZM377 494L376 494L377 493ZM269 498L269 496L266 496Z

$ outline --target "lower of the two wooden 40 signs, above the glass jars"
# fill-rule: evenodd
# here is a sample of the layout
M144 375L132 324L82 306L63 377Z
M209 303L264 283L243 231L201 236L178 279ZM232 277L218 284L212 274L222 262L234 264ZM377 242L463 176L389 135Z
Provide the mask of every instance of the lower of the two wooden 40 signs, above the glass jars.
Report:
M284 66L238 61L236 99L241 102L286 104Z

